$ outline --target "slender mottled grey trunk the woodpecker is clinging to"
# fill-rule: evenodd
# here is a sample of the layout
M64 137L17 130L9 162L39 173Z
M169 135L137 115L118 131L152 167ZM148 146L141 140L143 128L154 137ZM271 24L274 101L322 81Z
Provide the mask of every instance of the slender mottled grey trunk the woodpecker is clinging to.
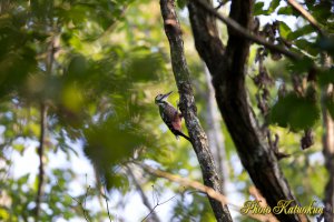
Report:
M177 20L174 0L160 0L160 9L165 32L170 46L173 72L180 95L179 109L185 118L191 144L200 164L204 184L223 193L206 134L197 118L197 108L190 83L189 70L184 54L181 30ZM227 205L223 205L212 198L209 198L209 202L217 221L232 221Z

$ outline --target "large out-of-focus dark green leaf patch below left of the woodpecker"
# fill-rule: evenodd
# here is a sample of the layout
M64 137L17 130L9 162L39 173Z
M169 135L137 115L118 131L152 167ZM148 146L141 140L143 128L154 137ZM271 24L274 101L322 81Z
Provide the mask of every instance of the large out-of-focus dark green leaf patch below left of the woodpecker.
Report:
M135 149L147 144L146 135L130 122L130 118L122 122L109 117L101 124L90 125L84 133L87 141L85 153L105 178L107 188L117 185L119 181L114 180L114 167L131 157Z

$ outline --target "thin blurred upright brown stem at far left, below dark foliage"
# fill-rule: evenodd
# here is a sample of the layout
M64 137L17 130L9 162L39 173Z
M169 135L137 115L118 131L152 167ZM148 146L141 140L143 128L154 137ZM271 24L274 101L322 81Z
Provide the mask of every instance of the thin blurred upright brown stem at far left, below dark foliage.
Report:
M42 186L45 180L45 163L43 163L43 150L46 142L46 130L47 130L47 105L40 105L40 138L38 147L38 158L39 158L39 172L38 172L38 186L37 186L37 196L36 196L36 221L39 221L40 216L40 203L42 195Z

